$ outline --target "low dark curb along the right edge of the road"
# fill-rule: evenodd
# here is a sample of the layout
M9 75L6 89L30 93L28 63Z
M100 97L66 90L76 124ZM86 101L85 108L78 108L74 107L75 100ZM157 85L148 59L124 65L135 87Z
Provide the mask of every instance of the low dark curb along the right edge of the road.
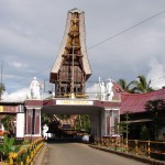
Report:
M157 161L157 160L154 160L154 158L146 158L146 157L136 156L136 155L133 155L133 154L127 154L127 153L122 153L122 152L118 152L118 151L111 151L111 150L100 147L100 146L96 146L96 145L92 145L92 144L89 144L89 146L94 147L94 148L97 148L97 150L100 150L100 151L113 153L113 154L117 154L117 155L120 155L120 156L138 160L138 161L143 162L143 163L150 163L152 165L165 165L165 162Z

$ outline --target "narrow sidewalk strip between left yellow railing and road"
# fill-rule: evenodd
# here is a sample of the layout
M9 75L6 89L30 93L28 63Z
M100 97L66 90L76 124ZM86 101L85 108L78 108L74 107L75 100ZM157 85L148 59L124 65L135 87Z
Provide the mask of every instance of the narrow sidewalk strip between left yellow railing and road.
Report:
M44 146L41 148L41 151L38 152L38 154L34 158L34 162L33 162L34 165L42 165L43 164L46 150L47 150L47 143L44 144Z

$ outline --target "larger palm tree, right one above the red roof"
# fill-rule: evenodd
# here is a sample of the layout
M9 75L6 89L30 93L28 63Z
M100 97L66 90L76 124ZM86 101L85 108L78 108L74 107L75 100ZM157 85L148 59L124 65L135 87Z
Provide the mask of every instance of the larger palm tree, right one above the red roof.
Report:
M147 82L146 78L143 75L138 76L138 80L135 81L135 87L133 88L134 92L150 92L153 91L151 85L151 80Z

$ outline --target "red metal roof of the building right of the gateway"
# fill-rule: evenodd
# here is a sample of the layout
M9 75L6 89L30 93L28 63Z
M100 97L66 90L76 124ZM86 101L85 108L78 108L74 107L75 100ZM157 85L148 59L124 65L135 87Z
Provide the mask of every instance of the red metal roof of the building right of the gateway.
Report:
M120 113L125 112L144 112L144 105L148 100L165 99L165 89L155 90L145 94L121 94Z

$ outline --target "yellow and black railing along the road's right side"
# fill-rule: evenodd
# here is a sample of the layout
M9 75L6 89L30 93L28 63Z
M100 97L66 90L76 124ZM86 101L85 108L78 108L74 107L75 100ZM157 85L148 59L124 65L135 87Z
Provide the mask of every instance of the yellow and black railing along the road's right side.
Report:
M165 142L103 138L95 143L110 150L165 161Z

